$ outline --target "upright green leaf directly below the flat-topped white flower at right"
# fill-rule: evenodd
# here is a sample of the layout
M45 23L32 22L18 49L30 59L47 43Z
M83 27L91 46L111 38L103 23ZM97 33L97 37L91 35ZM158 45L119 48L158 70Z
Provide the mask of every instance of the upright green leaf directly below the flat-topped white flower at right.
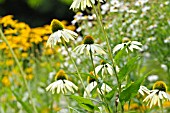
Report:
M121 82L126 77L126 75L129 74L129 72L131 72L133 70L138 58L139 58L138 56L132 58L129 62L127 62L127 64L125 66L123 66L120 69L120 71L118 73L119 82Z

